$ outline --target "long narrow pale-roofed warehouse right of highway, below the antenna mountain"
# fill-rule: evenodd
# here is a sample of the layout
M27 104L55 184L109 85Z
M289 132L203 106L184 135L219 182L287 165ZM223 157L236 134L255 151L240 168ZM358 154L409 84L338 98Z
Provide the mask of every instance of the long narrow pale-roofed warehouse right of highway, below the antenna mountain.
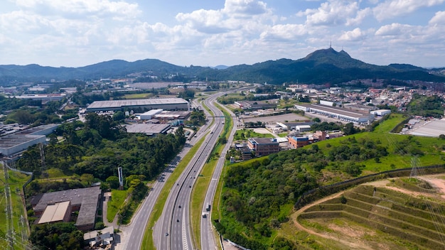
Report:
M374 114L352 112L340 107L328 107L320 104L295 104L294 107L295 109L299 109L304 112L323 114L342 121L352 122L353 124L368 124L374 119Z

